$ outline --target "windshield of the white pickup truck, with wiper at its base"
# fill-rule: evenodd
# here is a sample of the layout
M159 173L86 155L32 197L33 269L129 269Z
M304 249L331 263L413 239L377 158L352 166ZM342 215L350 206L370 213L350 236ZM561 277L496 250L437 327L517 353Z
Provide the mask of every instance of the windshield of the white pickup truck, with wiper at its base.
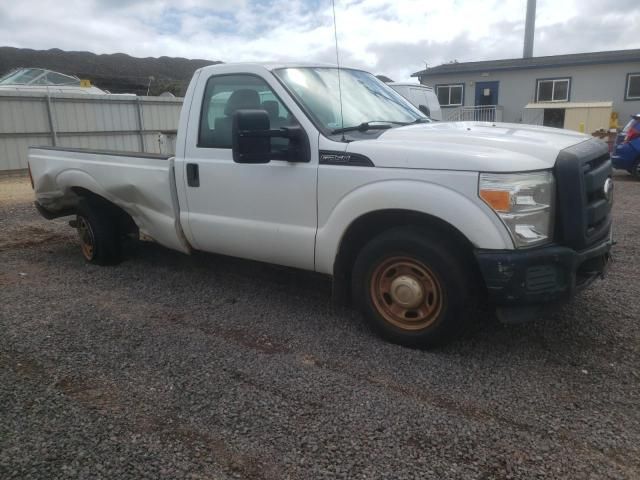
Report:
M364 123L428 121L419 110L370 73L337 68L283 68L276 75L325 131ZM342 121L344 118L344 122Z

